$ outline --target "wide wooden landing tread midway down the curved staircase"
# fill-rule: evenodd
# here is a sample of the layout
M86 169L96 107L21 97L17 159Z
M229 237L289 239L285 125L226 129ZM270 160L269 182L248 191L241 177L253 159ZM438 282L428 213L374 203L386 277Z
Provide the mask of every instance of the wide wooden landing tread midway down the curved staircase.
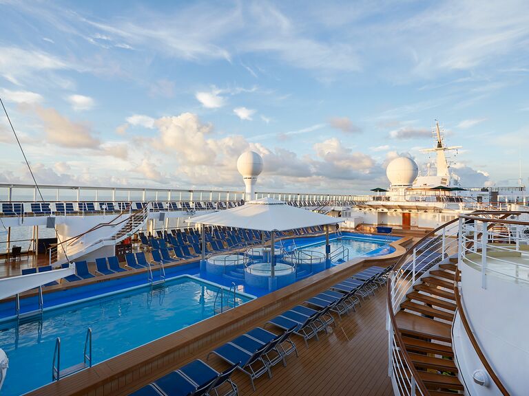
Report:
M447 323L404 311L397 312L395 319L402 334L452 343L450 325Z

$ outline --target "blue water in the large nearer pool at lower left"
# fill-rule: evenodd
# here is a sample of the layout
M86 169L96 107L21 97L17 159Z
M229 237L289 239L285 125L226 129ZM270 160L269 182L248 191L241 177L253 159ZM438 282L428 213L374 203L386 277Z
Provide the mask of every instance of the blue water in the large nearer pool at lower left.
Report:
M51 382L57 337L61 368L82 362L88 327L93 364L140 347L214 316L218 287L192 276L167 281L163 289L141 287L45 312L43 321L0 324L0 347L9 357L1 395L18 396ZM238 294L238 305L251 297Z

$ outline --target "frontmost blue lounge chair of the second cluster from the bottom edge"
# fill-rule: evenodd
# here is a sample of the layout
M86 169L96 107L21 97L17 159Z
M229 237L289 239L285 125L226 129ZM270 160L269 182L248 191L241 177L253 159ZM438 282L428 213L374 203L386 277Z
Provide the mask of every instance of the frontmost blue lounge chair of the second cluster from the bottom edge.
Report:
M259 349L246 351L237 347L235 344L228 342L214 351L211 351L207 357L209 358L209 355L213 353L231 365L239 364L237 368L250 377L251 387L253 388L253 391L255 391L256 386L253 384L253 380L265 373L268 373L268 375L271 376L269 366L262 358L262 353L266 349L267 344L262 344L262 347ZM260 365L256 367L256 364L258 363L260 363Z

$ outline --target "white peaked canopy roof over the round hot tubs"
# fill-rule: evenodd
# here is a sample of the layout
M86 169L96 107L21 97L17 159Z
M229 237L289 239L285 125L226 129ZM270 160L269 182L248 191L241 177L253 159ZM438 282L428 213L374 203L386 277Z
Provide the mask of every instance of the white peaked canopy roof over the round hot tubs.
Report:
M337 217L296 208L273 198L247 201L245 205L237 206L236 208L191 217L191 219L186 221L189 223L223 225L225 227L269 232L343 222L342 219Z

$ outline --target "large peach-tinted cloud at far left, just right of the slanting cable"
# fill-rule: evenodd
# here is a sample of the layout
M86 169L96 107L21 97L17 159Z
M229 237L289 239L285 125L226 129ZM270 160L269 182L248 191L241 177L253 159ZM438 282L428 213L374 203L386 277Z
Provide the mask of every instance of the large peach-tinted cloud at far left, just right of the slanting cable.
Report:
M98 148L101 144L89 125L73 122L52 108L37 105L35 111L43 122L48 142L68 148Z

